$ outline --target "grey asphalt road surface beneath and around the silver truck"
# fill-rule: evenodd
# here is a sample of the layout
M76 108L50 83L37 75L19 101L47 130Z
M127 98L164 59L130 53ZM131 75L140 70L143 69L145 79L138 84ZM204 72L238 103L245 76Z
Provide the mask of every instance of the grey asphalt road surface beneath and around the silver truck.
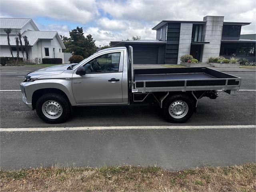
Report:
M0 90L18 90L30 67L0 71ZM255 72L228 72L242 78L241 89L255 90ZM191 130L83 130L0 132L0 166L16 169L63 164L76 166L154 165L168 169L226 166L255 162L255 128L199 129L193 126L255 125L256 92L236 96L219 92L216 100L202 98L188 122ZM0 91L1 128L76 126L178 126L162 118L156 106L74 108L68 122L50 125L21 101L21 93Z

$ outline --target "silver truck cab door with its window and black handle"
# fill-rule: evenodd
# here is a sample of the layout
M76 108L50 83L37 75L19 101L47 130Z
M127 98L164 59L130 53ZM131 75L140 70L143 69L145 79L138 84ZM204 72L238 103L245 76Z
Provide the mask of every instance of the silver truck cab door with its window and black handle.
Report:
M73 73L72 91L78 104L123 103L124 52L104 53L84 64L85 75Z

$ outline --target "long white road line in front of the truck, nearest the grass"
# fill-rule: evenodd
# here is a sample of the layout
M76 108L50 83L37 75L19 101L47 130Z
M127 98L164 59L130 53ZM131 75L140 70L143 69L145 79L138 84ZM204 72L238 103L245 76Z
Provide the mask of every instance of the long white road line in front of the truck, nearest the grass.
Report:
M46 127L46 128L0 128L0 132L43 132L79 130L130 130L130 129L242 129L256 128L256 125L219 125L219 126L98 126L98 127Z

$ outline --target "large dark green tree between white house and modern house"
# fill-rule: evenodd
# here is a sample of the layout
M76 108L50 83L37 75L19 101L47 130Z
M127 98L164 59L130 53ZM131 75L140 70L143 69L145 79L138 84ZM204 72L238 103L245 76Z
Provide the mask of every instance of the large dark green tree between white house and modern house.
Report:
M80 55L87 58L96 52L95 40L92 35L84 36L82 27L76 27L69 32L70 38L62 37L62 41L66 46L64 52L71 52L73 55Z

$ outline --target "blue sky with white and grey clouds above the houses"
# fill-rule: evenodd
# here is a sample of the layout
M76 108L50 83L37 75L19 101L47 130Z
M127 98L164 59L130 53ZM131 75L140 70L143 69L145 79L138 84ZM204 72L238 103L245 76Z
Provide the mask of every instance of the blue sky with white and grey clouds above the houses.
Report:
M68 31L82 26L96 45L132 36L154 39L151 28L161 20L203 20L206 15L225 21L252 22L242 34L256 33L255 0L1 0L0 17L32 18L40 30Z

